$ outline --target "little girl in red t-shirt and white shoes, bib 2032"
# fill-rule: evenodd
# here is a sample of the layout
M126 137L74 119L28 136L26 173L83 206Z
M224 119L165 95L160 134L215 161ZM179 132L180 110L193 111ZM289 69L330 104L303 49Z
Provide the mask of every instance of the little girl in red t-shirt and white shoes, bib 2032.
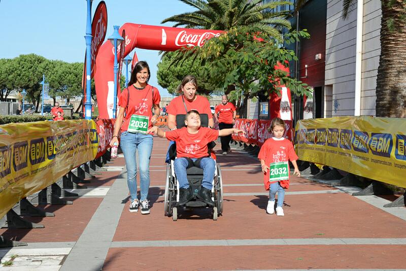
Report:
M275 208L275 195L278 192L277 216L284 216L283 200L285 189L289 188L289 160L294 166L294 175L300 177L296 160L298 159L292 143L283 138L285 122L275 118L270 124L274 137L267 139L261 147L258 159L261 161L264 174L265 189L269 190L269 201L266 213L273 214Z

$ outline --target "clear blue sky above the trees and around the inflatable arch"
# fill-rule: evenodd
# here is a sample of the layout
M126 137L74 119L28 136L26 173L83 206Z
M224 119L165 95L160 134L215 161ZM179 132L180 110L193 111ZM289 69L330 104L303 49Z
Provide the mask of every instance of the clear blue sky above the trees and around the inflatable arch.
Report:
M99 0L93 0L92 15ZM108 14L107 35L113 25L126 22L172 26L160 22L172 15L192 11L178 0L105 0ZM0 58L35 53L48 59L66 62L84 61L86 44L86 0L1 0L0 2ZM151 68L150 84L157 83L158 51L136 49L140 60ZM132 56L132 53L131 53Z

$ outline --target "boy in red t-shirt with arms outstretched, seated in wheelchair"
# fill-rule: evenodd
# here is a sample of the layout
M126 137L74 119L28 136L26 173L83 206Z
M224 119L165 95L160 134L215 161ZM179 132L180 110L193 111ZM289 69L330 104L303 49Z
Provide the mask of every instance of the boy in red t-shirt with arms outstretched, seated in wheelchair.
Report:
M200 126L200 115L196 110L190 110L185 116L186 127L173 131L163 131L153 126L148 132L153 132L160 138L176 142L177 158L174 162L175 174L179 182L178 205L185 205L193 198L192 189L187 180L186 168L189 163L202 168L203 180L197 197L210 206L214 206L212 200L212 181L216 171L216 162L209 156L208 144L215 141L219 136L228 136L231 133L244 132L236 128L213 130Z

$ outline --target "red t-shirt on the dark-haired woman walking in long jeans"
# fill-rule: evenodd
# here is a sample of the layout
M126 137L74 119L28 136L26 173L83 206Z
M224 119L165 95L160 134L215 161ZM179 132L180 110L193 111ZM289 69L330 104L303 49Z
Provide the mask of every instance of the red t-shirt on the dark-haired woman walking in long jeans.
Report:
M154 96L152 97L152 88L154 88ZM133 114L140 116L147 116L149 120L152 118L152 105L159 105L161 101L161 96L156 87L148 85L143 89L136 89L133 85L128 87L130 100L128 103L128 108L126 110L126 115L124 117L123 124L121 125L121 131L126 131L128 129L128 124L130 118ZM124 89L121 92L120 98L118 100L118 105L122 108L127 106L128 92ZM152 127L152 122L149 122L148 129Z

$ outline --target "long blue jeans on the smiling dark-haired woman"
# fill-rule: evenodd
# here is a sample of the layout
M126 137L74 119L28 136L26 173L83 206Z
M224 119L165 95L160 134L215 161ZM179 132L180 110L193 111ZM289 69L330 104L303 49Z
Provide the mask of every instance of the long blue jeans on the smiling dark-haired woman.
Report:
M131 200L137 199L137 159L136 151L140 158L140 187L141 201L147 199L149 189L149 162L152 152L152 135L132 133L124 131L121 133L120 147L124 154L127 167L127 185L130 190Z

